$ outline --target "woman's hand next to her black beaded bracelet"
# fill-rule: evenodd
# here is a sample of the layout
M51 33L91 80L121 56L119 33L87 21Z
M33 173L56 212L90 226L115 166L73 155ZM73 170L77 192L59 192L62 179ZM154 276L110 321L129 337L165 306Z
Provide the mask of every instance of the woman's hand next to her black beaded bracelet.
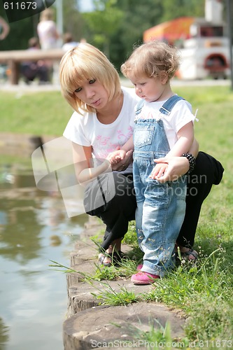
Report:
M156 163L167 163L168 167L164 175L156 178L157 181L167 182L175 181L180 176L186 174L190 169L190 162L185 157L158 158Z

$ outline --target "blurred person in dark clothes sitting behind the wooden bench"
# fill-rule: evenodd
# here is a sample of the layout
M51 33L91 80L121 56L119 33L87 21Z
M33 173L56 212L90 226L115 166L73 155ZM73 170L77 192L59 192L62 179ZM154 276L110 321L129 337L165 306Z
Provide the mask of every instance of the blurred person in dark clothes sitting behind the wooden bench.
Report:
M28 50L39 50L40 45L38 38L33 37L29 39ZM35 78L38 78L39 84L45 84L49 82L49 71L50 68L48 64L42 59L37 62L22 62L21 73L24 76L25 83L29 84Z

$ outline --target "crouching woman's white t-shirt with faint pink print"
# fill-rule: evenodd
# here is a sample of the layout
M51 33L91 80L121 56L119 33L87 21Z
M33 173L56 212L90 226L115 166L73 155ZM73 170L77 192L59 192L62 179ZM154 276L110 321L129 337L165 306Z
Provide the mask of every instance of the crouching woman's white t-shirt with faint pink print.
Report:
M92 146L95 158L104 159L117 146L123 146L134 132L134 109L139 97L130 87L122 87L122 92L122 110L113 123L100 123L96 113L84 112L80 115L74 112L63 136L81 146Z

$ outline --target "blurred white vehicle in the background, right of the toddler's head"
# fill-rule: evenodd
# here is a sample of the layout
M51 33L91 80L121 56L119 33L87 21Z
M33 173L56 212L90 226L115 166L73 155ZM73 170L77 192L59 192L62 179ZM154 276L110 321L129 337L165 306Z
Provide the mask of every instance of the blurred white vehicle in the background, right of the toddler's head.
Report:
M183 41L181 67L177 73L181 79L230 77L230 45L224 35L223 25L196 20L190 27L195 36Z

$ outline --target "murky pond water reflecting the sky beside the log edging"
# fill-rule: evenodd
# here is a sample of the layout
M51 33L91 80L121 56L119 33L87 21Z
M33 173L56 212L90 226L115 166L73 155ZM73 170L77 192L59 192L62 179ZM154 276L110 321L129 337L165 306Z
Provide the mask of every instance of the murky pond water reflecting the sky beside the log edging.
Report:
M87 215L36 189L30 165L0 165L0 349L62 350L70 253ZM20 163L19 163L20 164Z

